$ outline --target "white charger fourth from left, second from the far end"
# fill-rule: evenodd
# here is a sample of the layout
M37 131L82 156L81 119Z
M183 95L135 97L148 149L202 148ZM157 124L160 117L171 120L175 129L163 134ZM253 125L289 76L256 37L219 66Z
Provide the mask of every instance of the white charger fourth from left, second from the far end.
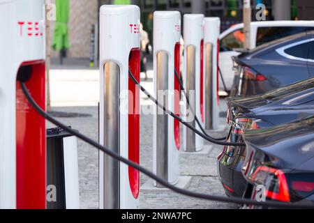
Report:
M204 125L204 15L184 15L184 86L190 100L186 105L186 121L200 130L192 113ZM192 109L190 110L189 109ZM202 150L204 140L184 127L184 151Z

